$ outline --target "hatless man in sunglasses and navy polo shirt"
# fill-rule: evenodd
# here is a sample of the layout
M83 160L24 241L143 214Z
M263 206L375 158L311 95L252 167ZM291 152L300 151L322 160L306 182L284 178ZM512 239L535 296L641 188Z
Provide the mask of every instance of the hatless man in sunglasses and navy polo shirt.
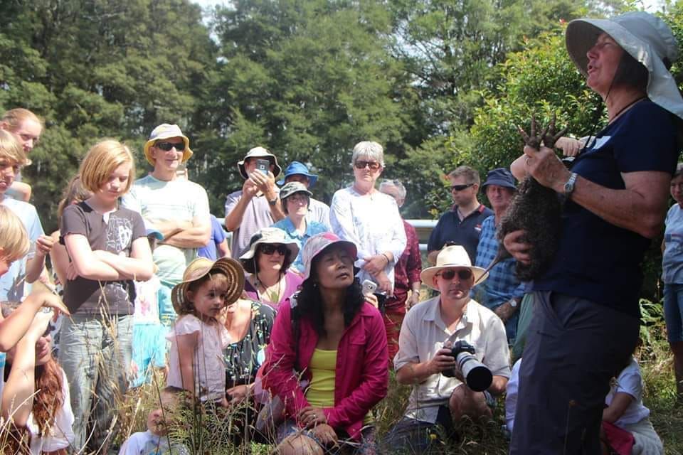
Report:
M441 215L429 236L427 261L435 264L439 252L448 244L462 245L474 264L482 223L493 215L493 211L477 200L481 179L475 169L459 166L448 174L448 180L454 205Z

